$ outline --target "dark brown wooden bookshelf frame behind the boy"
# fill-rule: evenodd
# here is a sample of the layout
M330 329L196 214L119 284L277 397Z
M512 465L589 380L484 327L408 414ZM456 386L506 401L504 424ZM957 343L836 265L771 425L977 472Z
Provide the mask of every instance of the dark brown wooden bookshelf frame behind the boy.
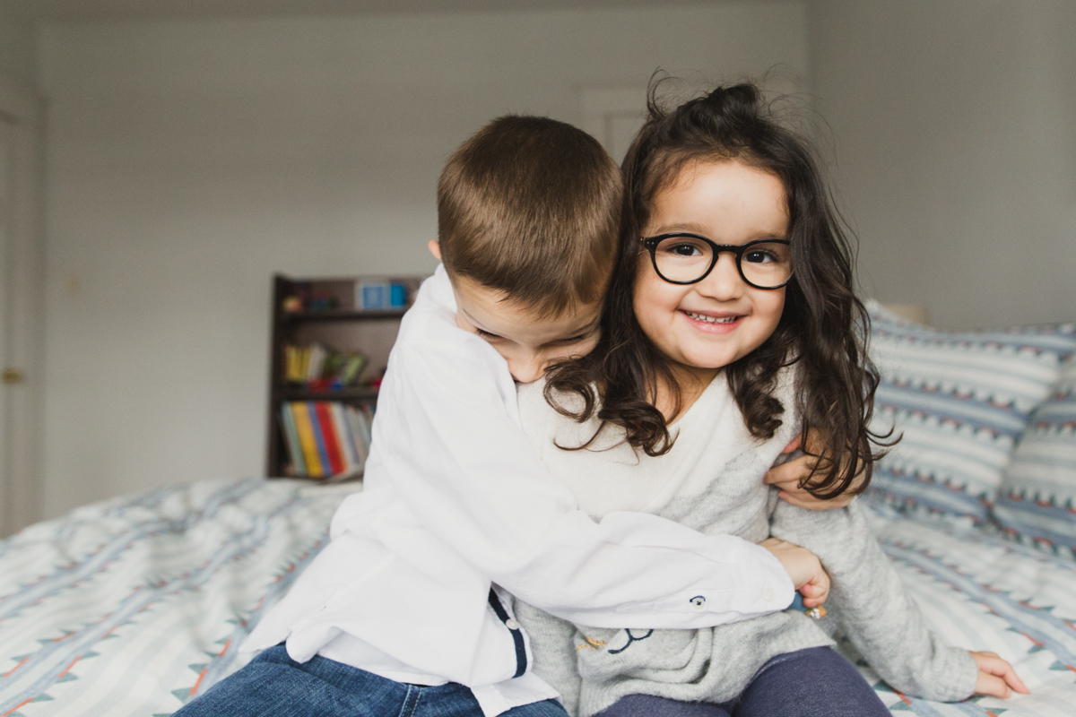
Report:
M356 291L359 282L377 279L404 284L408 289L407 305L400 309L381 310L358 307ZM377 279L364 276L301 278L282 274L273 276L266 475L303 477L295 474L288 460L286 438L281 426L283 403L334 401L360 405L377 400L378 389L370 385L370 382L384 371L404 312L414 300L422 277L390 276ZM287 302L291 304L287 305ZM357 385L314 390L301 384L287 383L284 371L284 347L312 343L330 346L338 352L365 354L369 358L369 363L363 370Z

